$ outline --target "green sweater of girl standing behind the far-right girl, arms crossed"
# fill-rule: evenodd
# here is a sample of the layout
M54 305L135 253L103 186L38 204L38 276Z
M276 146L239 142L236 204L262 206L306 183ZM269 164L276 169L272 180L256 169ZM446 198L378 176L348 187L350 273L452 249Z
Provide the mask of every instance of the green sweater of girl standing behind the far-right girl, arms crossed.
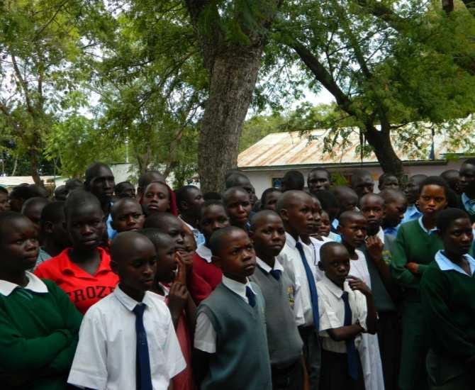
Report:
M434 260L438 250L442 249L442 240L435 233L427 234L420 227L418 219L403 223L396 236L391 257L391 274L396 283L408 289L406 296L419 301L420 278L427 264ZM418 274L413 274L405 266L408 262L419 264Z

